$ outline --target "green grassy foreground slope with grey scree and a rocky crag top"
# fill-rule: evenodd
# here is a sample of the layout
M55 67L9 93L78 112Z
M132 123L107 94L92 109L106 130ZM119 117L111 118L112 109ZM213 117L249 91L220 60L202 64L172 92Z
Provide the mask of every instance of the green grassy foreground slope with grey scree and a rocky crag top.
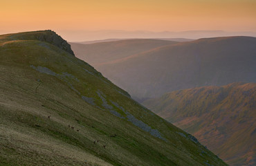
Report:
M0 36L0 165L226 165L38 35Z

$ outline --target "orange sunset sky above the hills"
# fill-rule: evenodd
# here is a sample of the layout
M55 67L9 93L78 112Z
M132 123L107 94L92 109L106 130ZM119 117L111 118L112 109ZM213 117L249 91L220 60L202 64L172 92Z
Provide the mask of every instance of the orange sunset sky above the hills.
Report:
M255 0L0 0L0 34L51 29L256 31ZM69 35L71 35L69 34Z

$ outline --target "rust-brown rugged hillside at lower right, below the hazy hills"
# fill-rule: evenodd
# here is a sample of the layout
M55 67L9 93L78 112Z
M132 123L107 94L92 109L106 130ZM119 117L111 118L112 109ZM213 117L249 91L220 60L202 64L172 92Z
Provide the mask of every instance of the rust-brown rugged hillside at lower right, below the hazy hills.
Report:
M203 86L146 100L145 106L199 141L230 165L255 165L256 84Z

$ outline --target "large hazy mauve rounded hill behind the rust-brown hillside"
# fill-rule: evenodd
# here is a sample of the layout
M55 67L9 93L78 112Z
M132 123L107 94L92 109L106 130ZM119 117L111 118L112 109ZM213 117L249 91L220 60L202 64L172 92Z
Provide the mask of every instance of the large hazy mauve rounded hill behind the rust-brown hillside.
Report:
M196 86L256 82L255 55L255 37L217 37L162 46L95 68L133 98L156 98Z

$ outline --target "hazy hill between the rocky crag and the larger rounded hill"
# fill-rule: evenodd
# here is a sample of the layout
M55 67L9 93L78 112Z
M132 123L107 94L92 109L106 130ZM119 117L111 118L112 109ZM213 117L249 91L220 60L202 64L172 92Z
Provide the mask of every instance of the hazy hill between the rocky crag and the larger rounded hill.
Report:
M177 42L160 39L122 39L113 42L101 42L96 44L70 43L75 56L83 59L91 65L97 65L113 60L143 53L146 50L176 44Z

